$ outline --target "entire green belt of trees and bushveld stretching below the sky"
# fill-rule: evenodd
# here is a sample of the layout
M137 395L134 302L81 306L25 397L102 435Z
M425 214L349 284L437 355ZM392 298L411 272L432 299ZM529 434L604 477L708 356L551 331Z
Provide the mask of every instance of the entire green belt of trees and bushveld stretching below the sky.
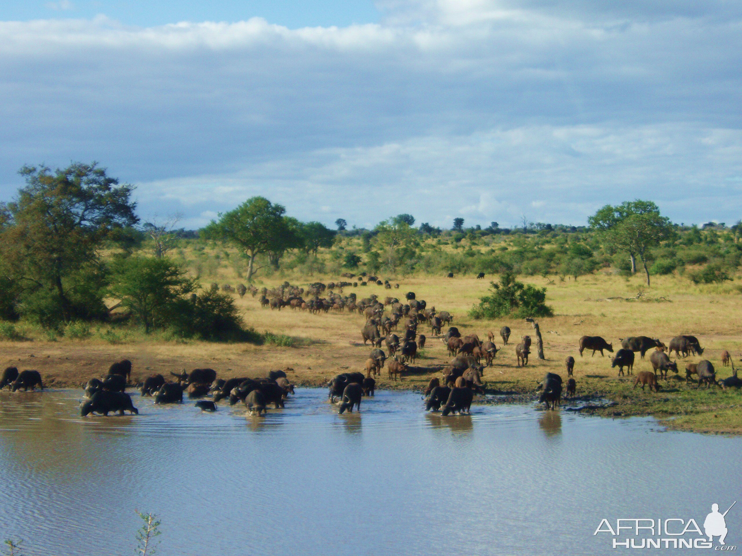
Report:
M145 333L247 337L232 297L200 285L219 277L225 263L245 281L257 274L348 271L577 279L609 269L643 272L648 283L653 274L670 273L712 283L731 279L742 259L742 225L674 225L657 205L641 200L606 205L589 227L524 222L504 229L492 222L465 228L457 218L441 230L416 227L412 215L399 214L372 230L347 230L338 219L333 231L300 222L257 196L199 231L185 231L175 228L177 219L139 222L131 185L96 164L21 173L26 185L0 204L0 320L50 330L123 320Z

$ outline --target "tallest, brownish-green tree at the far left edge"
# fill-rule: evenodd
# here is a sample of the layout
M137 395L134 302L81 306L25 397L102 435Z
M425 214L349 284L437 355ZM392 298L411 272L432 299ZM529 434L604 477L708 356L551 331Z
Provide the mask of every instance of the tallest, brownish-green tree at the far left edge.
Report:
M119 241L125 228L138 222L134 188L119 185L95 162L56 171L24 166L20 173L26 185L16 200L0 204L0 258L13 269L23 295L50 302L56 319L85 317L91 314L85 303L102 305L102 297L78 298L82 306L74 302L75 289L85 288L88 280L73 277L88 271L97 279L104 242Z

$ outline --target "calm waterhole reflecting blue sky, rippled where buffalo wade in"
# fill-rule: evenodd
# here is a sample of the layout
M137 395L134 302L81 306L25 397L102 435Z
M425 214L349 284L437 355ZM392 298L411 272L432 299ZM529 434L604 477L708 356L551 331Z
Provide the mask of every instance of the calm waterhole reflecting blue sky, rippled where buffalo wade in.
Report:
M0 393L0 535L27 555L131 554L134 509L162 519L161 555L611 554L603 517L702 525L734 500L742 543L737 438L531 406L438 417L400 392L340 416L298 389L263 419L137 395L138 416L82 419L78 395Z

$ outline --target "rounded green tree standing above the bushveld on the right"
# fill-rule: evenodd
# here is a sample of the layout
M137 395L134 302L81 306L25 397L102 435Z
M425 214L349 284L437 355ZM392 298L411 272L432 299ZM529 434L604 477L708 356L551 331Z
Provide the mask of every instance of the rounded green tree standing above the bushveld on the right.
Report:
M631 273L637 271L636 257L641 259L649 282L647 255L649 250L672 234L670 221L660 215L660 209L651 201L627 201L615 207L605 205L588 219L608 247L628 253Z

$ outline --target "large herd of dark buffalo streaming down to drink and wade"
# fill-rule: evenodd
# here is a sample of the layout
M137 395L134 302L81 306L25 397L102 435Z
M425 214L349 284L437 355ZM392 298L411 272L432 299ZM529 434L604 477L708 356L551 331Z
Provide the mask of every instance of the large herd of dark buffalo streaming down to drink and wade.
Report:
M289 282L283 282L271 290L263 288L257 290L254 286L244 285L237 287L240 297L251 293L253 297L260 294L260 305L280 311L283 307L293 310L309 311L313 314L328 311L357 311L365 317L366 322L361 328L361 340L372 345L370 355L364 365L365 372L348 372L338 374L329 380L329 401L338 405L338 412L360 410L361 398L373 396L375 391L375 377L386 368L390 380L398 380L411 371L410 363L415 363L419 351L424 348L427 338L421 334L421 327L430 327L430 335L439 337L447 348L448 354L453 356L450 364L442 369L441 378L433 378L424 391L425 408L427 411L441 411L442 415L464 414L470 411L474 394L484 394L486 383L483 381L485 368L493 365L493 360L499 350L495 345L495 334L487 333L486 340L480 340L477 334L462 336L456 326L451 325L453 315L448 311L436 311L434 306L428 306L424 299L418 299L412 291L405 294L404 299L385 297L379 299L372 294L364 299L358 299L355 293L343 295L346 286L375 283L384 285L384 288L398 288L388 280L382 282L378 277L355 277L345 274L349 279L356 278L356 282L330 282L324 284L315 282L306 290ZM218 288L218 285L212 285ZM222 289L226 291L226 286ZM229 287L229 291L234 288ZM444 325L447 331L442 333ZM510 341L510 328L503 326L499 331L503 345ZM540 335L539 335L540 342ZM382 348L384 346L386 351ZM613 344L600 336L583 336L580 338L580 357L584 351L591 351L594 356L597 351L613 353ZM611 359L611 368L618 368L619 376L633 374L634 354L640 353L644 358L647 351L651 351L649 362L653 371L640 371L634 380L634 388L641 385L642 389L649 385L649 390L660 390L660 379L668 380L669 371L678 373L677 362L670 360L670 355L689 357L689 355L703 354L698 339L690 335L681 335L672 338L669 345L665 345L657 338L646 336L628 337L621 339L621 348ZM531 337L522 336L515 345L517 366L528 365L528 356L531 353ZM727 351L721 355L723 365L731 362ZM566 395L574 397L577 383L574 379L574 357L567 357L565 367L567 372ZM624 371L626 369L626 373ZM734 370L732 377L723 380L716 379L714 366L708 360L686 364L686 381L696 382L700 386L706 384L719 385L721 388L741 388L742 380L738 379ZM122 360L114 363L108 369L108 374L102 378L91 378L82 386L85 397L80 405L82 416L88 414L103 414L118 412L124 414L129 411L138 414L137 408L126 393L131 385L131 362ZM15 367L8 367L0 377L0 389L8 387L12 391L36 387L43 390L42 377L38 371L26 370L19 372ZM156 404L182 403L184 394L188 398L203 398L211 396L211 400L197 400L196 406L203 411L216 411L220 400L227 400L230 406L243 403L251 415L262 415L266 408L273 404L275 408L283 408L289 394L294 393L294 386L286 377L285 371L269 371L264 377L239 377L230 379L217 378L217 373L210 368L197 368L190 373L185 369L180 373L171 373L170 380L162 374L147 377L136 385L142 397L151 397ZM544 403L547 409L554 409L562 400L562 377L557 373L546 373L545 377L536 386L539 391L539 403Z

